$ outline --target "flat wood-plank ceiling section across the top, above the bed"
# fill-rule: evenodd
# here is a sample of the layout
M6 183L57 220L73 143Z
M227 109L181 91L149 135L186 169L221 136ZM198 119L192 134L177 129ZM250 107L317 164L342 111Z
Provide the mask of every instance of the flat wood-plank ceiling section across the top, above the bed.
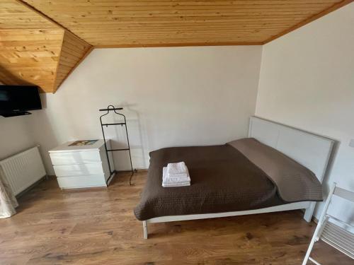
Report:
M24 0L93 46L261 45L342 0Z

